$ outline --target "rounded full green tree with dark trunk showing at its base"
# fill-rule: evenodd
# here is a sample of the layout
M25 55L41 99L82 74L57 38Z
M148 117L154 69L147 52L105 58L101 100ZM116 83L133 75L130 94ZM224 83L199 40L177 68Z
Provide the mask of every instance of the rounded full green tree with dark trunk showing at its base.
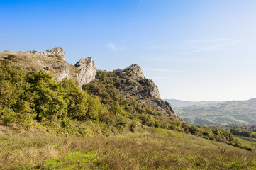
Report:
M66 115L67 103L63 99L62 86L52 77L52 74L42 70L28 74L28 82L31 86L26 97L33 102L37 120L61 118Z

